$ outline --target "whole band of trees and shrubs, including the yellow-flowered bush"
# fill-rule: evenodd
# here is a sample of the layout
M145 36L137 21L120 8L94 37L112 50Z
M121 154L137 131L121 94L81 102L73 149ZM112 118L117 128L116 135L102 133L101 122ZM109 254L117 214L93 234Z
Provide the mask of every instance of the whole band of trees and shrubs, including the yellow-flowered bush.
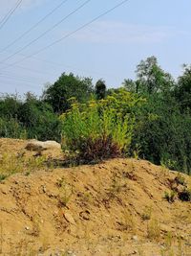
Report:
M191 67L175 81L151 57L136 72L117 89L63 73L40 97L3 95L0 136L62 141L87 162L134 155L190 174Z

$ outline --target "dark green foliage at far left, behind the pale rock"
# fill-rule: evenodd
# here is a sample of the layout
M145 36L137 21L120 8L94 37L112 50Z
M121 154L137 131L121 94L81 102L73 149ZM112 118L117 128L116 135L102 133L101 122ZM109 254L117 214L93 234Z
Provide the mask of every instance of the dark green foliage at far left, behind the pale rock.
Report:
M37 138L60 140L61 122L52 106L26 94L21 101L17 95L0 99L0 136L11 138Z

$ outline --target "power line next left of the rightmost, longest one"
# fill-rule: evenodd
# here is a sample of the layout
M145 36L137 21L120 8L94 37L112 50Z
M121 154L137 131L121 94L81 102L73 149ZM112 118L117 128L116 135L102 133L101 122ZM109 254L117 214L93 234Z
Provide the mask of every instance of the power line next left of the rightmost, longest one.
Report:
M64 18L62 18L61 20L59 20L58 22L56 22L53 27L51 27L50 29L48 29L47 31L45 31L43 34L37 36L36 38L34 38L30 43L26 44L25 46L23 46L20 50L16 51L15 53L13 53L11 56L9 56L8 58L4 58L3 60L0 61L0 63L7 61L8 59L14 57L15 55L21 53L23 50L27 49L29 46L31 46L34 42L36 42L37 40L39 40L40 38L42 38L44 35L47 35L48 33L50 33L51 31L53 31L54 28L56 28L59 24L61 24L63 21L65 21L67 18L69 18L70 16L72 16L75 12L78 12L80 9L82 9L85 5L87 5L90 1L92 0L86 0L82 5L80 5L79 7L77 7L76 9L74 9L73 12L70 12L68 15L66 15Z

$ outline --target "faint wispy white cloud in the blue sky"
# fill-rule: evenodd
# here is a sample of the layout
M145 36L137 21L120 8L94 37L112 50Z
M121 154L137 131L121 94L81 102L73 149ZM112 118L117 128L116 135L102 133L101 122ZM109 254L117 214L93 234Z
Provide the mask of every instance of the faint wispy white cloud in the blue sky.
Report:
M159 43L181 32L171 27L145 26L122 22L103 21L92 24L88 29L73 37L80 41L95 43Z

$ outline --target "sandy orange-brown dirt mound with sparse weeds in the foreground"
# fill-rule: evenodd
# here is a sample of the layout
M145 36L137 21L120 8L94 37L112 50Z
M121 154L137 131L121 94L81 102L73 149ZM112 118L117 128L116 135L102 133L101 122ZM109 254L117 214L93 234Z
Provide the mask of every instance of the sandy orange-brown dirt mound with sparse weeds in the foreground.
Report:
M18 153L26 141L0 145ZM191 203L164 198L177 176L136 159L11 175L0 184L1 255L189 256Z

